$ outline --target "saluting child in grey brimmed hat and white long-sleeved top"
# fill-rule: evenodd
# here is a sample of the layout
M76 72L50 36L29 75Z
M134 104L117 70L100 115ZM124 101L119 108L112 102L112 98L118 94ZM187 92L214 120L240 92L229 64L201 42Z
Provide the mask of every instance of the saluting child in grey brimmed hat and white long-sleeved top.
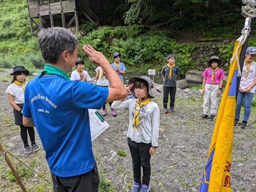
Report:
M148 192L150 190L150 157L158 147L160 110L151 100L154 98L151 88L153 81L147 76L132 77L128 81L127 92L138 97L125 101L114 101L112 108L129 109L128 146L132 156L134 186L132 192ZM141 171L143 176L141 180Z

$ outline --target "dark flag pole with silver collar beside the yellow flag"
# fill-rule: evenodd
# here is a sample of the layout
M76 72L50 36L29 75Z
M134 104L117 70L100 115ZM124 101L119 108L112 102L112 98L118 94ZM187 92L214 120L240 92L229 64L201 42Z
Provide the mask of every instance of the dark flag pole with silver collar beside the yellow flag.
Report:
M247 48L247 44L248 44L248 40L249 40L249 36L250 36L250 31L251 31L251 18L247 17L245 19L244 22L244 28L242 30L242 32L244 32L245 30L247 30L247 36L246 36L246 40L242 46L242 50L241 50L241 54L240 54L240 60L239 60L239 66L241 69L241 74L242 74L242 70L243 70L243 66L244 66L244 58L245 58L245 53L246 53L246 48ZM237 77L237 82L236 82L236 98L238 95L238 90L239 90L239 86L240 86L240 81L241 81L241 76Z

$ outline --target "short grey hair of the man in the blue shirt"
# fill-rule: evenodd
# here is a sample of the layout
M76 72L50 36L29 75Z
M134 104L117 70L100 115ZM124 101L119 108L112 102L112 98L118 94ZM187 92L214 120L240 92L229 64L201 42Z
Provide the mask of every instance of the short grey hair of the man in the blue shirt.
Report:
M73 54L79 44L76 36L66 28L43 28L38 33L38 45L46 63L56 64L64 50Z

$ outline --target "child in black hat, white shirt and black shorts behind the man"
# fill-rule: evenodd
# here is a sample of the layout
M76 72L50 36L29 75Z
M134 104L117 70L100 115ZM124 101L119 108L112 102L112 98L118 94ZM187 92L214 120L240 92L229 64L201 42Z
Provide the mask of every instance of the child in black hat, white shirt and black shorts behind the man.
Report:
M28 144L28 134L30 136L31 146L34 151L38 151L40 147L35 143L35 131L34 127L25 127L22 122L22 108L24 105L24 90L26 87L26 76L29 71L24 66L18 65L13 68L12 84L8 86L6 93L8 93L8 99L10 105L14 108L15 124L20 126L20 136L24 144L24 153L30 154L32 152ZM28 132L28 133L27 133Z

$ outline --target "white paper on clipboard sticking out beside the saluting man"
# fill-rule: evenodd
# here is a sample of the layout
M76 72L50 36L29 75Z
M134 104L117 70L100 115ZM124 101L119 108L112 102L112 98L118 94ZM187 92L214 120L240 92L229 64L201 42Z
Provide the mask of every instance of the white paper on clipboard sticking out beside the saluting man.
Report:
M88 109L92 141L104 132L109 124L102 118L96 109ZM103 121L103 122L102 122Z

